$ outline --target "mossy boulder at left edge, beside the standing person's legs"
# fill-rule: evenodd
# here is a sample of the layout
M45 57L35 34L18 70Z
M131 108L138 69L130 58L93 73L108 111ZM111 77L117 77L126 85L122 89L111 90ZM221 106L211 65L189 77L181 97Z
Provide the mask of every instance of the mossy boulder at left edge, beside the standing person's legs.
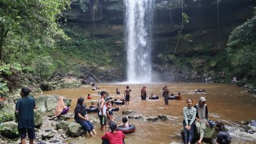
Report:
M18 124L15 122L3 122L0 125L0 134L6 138L18 138Z

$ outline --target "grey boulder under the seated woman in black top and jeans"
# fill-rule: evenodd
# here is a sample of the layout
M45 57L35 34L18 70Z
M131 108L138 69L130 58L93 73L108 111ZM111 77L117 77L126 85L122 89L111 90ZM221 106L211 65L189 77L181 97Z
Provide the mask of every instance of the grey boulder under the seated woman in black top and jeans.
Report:
M77 136L81 136L82 134L85 134L85 133L86 133L86 131L84 131L82 129L82 126L80 124L78 124L77 122L71 122L68 125L68 131L67 131L68 136L77 137Z

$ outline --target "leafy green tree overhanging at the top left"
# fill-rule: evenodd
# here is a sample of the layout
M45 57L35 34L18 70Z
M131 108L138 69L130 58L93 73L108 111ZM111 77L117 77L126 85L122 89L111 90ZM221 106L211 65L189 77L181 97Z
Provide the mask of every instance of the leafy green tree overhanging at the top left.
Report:
M26 41L31 49L52 47L54 37L65 36L58 28L62 10L69 7L69 0L1 0L0 1L0 60L8 36ZM8 35L10 34L10 35ZM12 39L13 40L13 39ZM22 49L22 47L15 47ZM10 54L10 53L7 53ZM7 61L6 61L7 62Z

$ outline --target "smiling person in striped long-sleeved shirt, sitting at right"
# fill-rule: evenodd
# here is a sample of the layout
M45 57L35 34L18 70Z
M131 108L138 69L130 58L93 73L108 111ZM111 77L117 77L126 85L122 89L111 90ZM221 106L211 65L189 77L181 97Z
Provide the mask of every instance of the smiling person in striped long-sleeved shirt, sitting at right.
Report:
M185 144L191 144L193 138L193 131L195 129L195 118L196 118L196 108L193 107L193 100L187 99L188 106L183 108L183 127Z

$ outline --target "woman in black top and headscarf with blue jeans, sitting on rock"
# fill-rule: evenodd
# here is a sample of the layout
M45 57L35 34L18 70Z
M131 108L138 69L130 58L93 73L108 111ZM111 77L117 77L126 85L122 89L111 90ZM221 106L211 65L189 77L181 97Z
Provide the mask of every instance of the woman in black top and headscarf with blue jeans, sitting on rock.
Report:
M93 128L92 122L90 122L88 116L86 115L86 105L84 104L84 99L77 99L76 108L74 110L75 117L74 119L78 124L80 124L83 129L86 129L90 136L95 136L97 133Z

